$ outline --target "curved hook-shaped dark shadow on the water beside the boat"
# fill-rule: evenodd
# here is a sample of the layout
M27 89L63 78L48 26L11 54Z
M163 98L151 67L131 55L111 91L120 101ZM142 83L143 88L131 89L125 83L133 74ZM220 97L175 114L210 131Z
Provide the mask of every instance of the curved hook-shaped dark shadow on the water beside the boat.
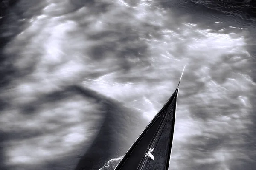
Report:
M40 96L35 102L24 105L21 111L23 115L27 116L29 119L31 116L36 116L37 111L44 107L44 104L62 102L65 99L72 99L74 95L83 96L84 99L93 100L99 104L100 111L104 113L101 115L102 123L98 130L99 133L95 134L93 141L90 141L92 144L90 144L89 148L87 148L88 144L84 144L86 147L83 150L86 150L86 152L81 158L70 157L67 154L63 156L64 159L56 158L56 160L47 161L43 167L38 167L38 170L63 170L63 168L74 167L76 162L79 162L76 165L76 170L99 169L106 164L108 160L122 156L140 134L140 130L146 125L145 122L142 121L142 116L137 111L128 109L116 100L78 85L71 85L51 94ZM56 117L55 125L58 125L59 121L61 121L58 119L59 118ZM7 170L5 169L7 167L4 166L5 157L2 154L3 142L7 142L8 144L10 140L22 141L23 139L40 137L50 133L56 134L58 133L58 129L44 132L31 129L27 131L26 134L24 134L23 131L8 134L0 133L0 169ZM76 150L73 152L76 152ZM75 154L72 153L70 155ZM23 168L26 169L26 167Z

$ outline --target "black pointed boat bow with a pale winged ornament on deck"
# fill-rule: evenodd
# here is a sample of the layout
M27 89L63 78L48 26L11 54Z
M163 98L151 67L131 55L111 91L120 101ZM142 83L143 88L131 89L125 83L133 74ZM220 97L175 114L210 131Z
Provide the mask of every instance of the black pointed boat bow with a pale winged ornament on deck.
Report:
M175 92L125 153L115 170L169 169L179 85L180 81Z

